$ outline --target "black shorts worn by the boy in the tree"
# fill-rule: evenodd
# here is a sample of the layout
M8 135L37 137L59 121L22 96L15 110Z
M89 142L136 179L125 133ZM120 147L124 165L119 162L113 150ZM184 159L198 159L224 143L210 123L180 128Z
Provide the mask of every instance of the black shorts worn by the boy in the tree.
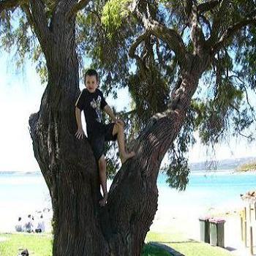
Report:
M97 162L99 161L99 158L102 156L102 154L105 154L105 141L117 139L117 133L116 135L112 135L114 125L115 123L104 124L104 129L102 132L98 132L97 134L91 135L88 138Z

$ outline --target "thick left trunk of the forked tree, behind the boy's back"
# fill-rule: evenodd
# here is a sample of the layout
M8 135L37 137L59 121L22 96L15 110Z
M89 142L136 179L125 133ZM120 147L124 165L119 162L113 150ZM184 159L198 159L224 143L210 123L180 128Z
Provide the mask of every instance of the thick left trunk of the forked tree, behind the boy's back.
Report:
M80 94L75 22L64 22L56 15L54 34L42 47L48 86L39 112L29 118L34 156L52 200L53 255L109 255L99 222L97 165L87 140L75 138Z

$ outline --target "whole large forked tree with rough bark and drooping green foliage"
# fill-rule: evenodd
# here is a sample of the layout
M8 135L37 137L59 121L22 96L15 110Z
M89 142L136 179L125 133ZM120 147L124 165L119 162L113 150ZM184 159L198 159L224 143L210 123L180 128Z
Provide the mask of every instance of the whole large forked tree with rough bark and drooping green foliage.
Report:
M3 46L17 42L20 63L30 53L39 58L42 77L47 75L40 109L31 114L29 126L53 205L53 255L140 255L157 211L159 167L180 132L181 154L172 164L185 167L173 168L170 181L180 189L187 183L182 152L190 138L183 125L189 131L208 127L201 135L209 141L223 133L230 111L239 113L241 124L244 94L231 83L235 58L230 48L238 53L255 41L255 1L4 0L0 12ZM11 22L15 15L16 27ZM244 79L252 80L255 73L248 71L246 58L255 49L249 49L237 60L246 69ZM116 173L102 210L91 148L86 139L75 138L84 53L93 58L107 93L116 90L110 81L129 87L135 110L124 115L133 114L130 118L142 124L130 145L136 157ZM129 73L132 59L135 74ZM216 78L214 99L192 99L202 75Z

